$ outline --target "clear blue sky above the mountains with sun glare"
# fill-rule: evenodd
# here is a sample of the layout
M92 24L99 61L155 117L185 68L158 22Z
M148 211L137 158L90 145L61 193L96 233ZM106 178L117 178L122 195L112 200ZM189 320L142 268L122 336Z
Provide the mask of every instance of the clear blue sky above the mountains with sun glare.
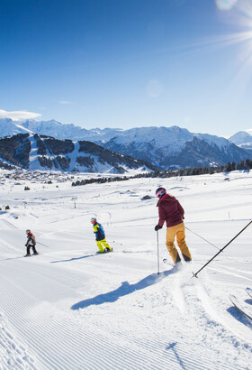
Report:
M252 128L250 0L1 0L0 117Z

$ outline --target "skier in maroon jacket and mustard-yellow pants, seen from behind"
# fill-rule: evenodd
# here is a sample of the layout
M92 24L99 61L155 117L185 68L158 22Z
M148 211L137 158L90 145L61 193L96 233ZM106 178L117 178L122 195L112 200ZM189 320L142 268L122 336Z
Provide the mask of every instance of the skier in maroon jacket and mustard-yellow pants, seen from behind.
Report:
M178 264L181 262L180 256L175 248L175 236L176 242L179 246L182 256L185 262L192 261L192 255L185 243L184 234L184 209L175 197L170 194L166 194L166 189L158 188L156 190L156 197L158 198L157 207L159 220L155 227L155 231L158 231L163 227L166 221L166 247L171 255L173 262Z

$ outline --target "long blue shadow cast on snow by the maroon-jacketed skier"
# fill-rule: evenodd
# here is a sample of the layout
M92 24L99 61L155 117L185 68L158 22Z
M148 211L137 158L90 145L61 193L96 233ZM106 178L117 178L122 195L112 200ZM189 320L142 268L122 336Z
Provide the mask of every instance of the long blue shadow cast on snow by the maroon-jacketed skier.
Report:
M154 285L157 282L160 282L166 276L171 275L172 273L175 273L175 272L176 272L176 269L174 268L169 271L164 271L163 273L160 273L159 275L157 275L157 273L152 273L151 275L146 276L144 279L140 280L139 282L136 282L135 284L130 284L129 282L121 282L121 286L115 289L114 291L109 291L104 294L96 295L96 297L89 298L85 301L79 301L76 304L74 304L71 307L71 309L79 310L79 309L85 309L86 307L89 307L92 305L112 303L114 301L117 301L120 297L128 295L132 293L133 291L140 291L141 289L145 289L150 285Z

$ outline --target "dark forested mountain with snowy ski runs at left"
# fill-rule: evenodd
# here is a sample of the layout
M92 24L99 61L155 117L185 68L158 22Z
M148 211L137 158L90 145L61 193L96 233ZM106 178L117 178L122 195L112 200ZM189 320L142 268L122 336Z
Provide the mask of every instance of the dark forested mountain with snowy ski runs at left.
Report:
M155 170L151 164L112 153L95 143L58 140L39 134L16 134L0 139L0 160L1 166L12 164L29 170L107 173Z

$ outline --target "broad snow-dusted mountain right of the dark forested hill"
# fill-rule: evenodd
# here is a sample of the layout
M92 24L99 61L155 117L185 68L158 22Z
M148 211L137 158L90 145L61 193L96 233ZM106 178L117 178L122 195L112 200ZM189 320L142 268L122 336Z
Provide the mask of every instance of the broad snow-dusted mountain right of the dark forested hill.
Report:
M103 139L96 143L165 170L224 165L251 158L249 153L223 137L193 134L178 126L134 128L117 132L106 142Z

